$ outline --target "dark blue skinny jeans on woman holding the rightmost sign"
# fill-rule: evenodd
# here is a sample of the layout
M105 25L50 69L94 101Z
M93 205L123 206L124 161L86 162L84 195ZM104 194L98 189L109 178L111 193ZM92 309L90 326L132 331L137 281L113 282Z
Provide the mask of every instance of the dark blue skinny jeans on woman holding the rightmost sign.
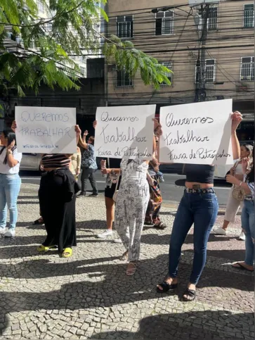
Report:
M207 241L218 214L216 194L190 194L184 191L178 206L169 247L169 277L175 278L181 247L194 223L194 258L190 283L197 284L207 260Z

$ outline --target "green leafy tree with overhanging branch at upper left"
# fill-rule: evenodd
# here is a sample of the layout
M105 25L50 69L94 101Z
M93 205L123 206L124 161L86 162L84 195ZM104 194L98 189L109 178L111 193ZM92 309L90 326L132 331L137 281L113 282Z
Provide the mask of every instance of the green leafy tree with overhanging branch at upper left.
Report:
M108 20L100 6L106 0L39 1L46 18L38 15L34 0L0 1L2 95L10 88L16 89L19 96L25 96L27 88L37 93L42 83L52 89L55 85L64 90L79 89L80 70L72 56L100 51L98 37L104 37L94 27L100 15ZM20 44L14 42L17 38ZM131 42L122 42L115 36L105 38L103 53L107 61L131 76L140 70L145 84L156 89L161 82L170 84L166 73L171 71L135 49Z

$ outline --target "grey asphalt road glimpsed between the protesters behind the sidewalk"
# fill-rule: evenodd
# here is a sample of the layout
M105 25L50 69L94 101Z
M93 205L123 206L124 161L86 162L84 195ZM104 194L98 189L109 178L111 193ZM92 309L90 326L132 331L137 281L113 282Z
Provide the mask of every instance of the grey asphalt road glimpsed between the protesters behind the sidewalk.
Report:
M38 184L40 177L37 172L21 172L20 173L23 183ZM96 179L98 182L99 192L103 192L105 189L105 178L102 177L100 172L96 173ZM164 182L160 184L162 196L164 201L179 202L183 195L183 187L185 182L185 176L176 174L164 174ZM214 183L216 194L218 197L218 203L220 206L225 206L230 187L223 180L216 180ZM88 191L91 190L90 184L88 184Z

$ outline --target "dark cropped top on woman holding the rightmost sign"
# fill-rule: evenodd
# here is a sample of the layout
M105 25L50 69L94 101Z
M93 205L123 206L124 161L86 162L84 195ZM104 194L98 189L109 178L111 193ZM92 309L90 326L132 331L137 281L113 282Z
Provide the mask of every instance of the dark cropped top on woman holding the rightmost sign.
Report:
M214 184L214 165L185 164L187 182Z

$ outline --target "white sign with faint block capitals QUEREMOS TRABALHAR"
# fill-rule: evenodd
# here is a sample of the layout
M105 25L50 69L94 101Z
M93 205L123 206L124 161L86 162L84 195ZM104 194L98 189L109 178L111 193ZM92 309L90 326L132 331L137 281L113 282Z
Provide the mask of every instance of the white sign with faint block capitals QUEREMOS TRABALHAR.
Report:
M75 108L16 106L15 120L19 152L76 152Z

